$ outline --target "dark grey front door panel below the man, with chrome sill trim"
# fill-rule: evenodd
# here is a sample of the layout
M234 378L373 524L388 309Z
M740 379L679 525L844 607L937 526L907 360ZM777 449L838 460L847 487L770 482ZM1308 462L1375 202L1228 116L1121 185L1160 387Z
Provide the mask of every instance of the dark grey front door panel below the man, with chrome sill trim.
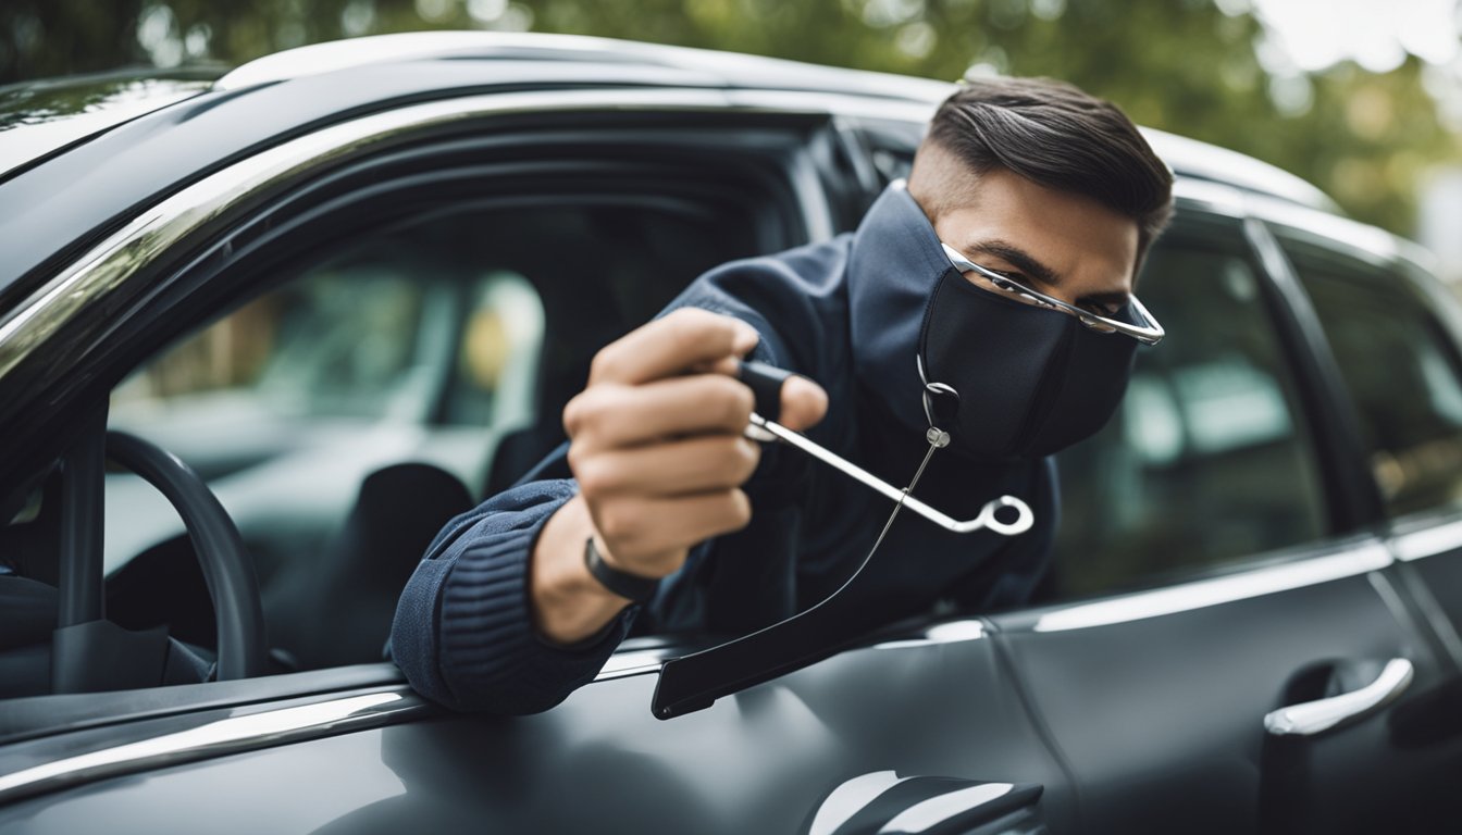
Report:
M880 797L873 812L887 822L939 796L953 806L923 820L963 823L937 831L1072 831L1060 765L980 621L890 635L671 721L649 711L658 657L627 651L535 717L424 715L409 690L376 684L13 744L0 749L0 832L98 820L219 834L873 832L854 819ZM1016 803L975 817L993 798Z

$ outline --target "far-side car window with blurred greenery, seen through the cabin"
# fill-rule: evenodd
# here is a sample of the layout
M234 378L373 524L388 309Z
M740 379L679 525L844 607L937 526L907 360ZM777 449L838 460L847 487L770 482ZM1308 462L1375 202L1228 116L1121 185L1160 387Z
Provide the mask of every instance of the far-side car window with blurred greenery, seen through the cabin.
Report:
M515 428L532 420L542 338L522 275L367 243L140 366L113 390L110 423L208 478L322 431Z

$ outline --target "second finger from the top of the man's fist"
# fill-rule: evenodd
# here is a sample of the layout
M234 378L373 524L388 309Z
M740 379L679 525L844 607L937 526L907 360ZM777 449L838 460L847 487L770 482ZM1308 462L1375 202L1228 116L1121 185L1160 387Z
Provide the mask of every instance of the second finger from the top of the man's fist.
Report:
M721 374L591 386L569 401L563 426L579 455L690 434L740 434L751 399L751 389ZM575 452L570 447L570 464Z

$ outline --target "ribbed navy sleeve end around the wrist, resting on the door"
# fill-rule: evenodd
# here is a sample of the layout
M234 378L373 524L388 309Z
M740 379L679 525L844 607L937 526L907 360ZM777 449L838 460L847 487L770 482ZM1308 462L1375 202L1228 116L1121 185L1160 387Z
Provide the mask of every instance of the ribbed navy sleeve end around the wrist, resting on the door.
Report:
M535 714L591 681L637 607L572 648L541 639L528 566L544 522L573 497L570 480L531 481L443 528L402 591L390 652L421 695L458 711Z

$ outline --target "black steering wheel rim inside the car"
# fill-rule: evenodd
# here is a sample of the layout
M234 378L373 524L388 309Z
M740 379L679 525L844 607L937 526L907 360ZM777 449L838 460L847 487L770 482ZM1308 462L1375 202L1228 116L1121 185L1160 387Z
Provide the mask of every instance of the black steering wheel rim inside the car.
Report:
M213 601L218 680L262 676L268 643L259 581L228 510L192 466L154 443L108 430L107 455L162 493L193 540Z

